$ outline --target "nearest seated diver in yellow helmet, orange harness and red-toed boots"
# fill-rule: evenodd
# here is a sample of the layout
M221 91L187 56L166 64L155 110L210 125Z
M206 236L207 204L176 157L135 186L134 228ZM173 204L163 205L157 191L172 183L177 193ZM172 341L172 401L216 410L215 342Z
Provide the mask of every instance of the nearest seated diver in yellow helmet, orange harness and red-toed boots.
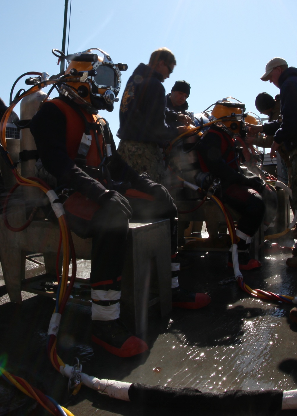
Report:
M114 64L97 48L66 59L70 63L59 97L41 106L30 130L46 171L57 186L72 190L64 203L70 228L79 237L92 237L92 340L112 354L131 357L148 346L119 320L130 218L171 220L172 305L198 309L210 298L179 287L176 206L162 185L121 159L107 121L97 115L98 110L113 110L126 65Z

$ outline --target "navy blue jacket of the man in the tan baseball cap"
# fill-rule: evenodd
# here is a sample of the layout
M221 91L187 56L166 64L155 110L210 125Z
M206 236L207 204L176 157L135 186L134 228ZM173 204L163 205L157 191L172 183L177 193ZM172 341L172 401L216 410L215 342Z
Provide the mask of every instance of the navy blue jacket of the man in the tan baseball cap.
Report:
M287 150L297 147L297 68L285 69L278 80L280 85L280 107L282 122L265 123L263 132L274 134L274 141L284 142Z

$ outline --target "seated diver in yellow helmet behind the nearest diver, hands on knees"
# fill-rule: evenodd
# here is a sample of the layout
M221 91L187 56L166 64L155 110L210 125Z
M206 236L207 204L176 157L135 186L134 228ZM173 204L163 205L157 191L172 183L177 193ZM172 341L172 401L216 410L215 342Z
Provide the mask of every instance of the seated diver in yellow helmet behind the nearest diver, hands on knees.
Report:
M224 116L231 118L231 114L240 115L245 110L244 104L238 104L238 108L237 103L229 103L230 106L227 102L223 104L215 104L211 120ZM265 182L260 176L243 174L239 166L235 134L245 136L245 123L241 116L238 116L238 121L226 119L212 124L196 149L201 170L209 172L213 179L220 179L220 188L215 195L241 214L236 229L239 268L251 270L261 266L258 260L250 257L248 249L265 215L265 203L261 196ZM229 252L228 266L232 265L232 255Z

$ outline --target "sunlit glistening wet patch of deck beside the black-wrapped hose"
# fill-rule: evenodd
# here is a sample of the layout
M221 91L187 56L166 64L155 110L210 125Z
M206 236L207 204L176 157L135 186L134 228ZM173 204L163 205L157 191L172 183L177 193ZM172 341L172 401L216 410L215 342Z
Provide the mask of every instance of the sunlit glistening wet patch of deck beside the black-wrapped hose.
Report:
M282 374L278 366L284 350L295 351L297 336L282 339L279 332L284 318L282 313L274 317L271 319L270 314L244 319L232 337L237 342L226 345L224 337L216 346L199 347L189 344L183 333L163 334L154 343L148 357L151 362L145 369L134 369L126 381L143 379L148 384L202 391L292 389L290 375Z

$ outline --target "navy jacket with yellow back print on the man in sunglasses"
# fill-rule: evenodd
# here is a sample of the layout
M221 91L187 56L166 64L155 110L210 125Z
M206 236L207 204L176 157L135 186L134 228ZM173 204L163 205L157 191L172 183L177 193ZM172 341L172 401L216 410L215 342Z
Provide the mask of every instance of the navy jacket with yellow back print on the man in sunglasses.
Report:
M162 74L142 63L128 79L120 106L117 136L121 140L156 142L163 146L178 136L177 129L166 124L176 121L177 114L165 109L162 80Z

